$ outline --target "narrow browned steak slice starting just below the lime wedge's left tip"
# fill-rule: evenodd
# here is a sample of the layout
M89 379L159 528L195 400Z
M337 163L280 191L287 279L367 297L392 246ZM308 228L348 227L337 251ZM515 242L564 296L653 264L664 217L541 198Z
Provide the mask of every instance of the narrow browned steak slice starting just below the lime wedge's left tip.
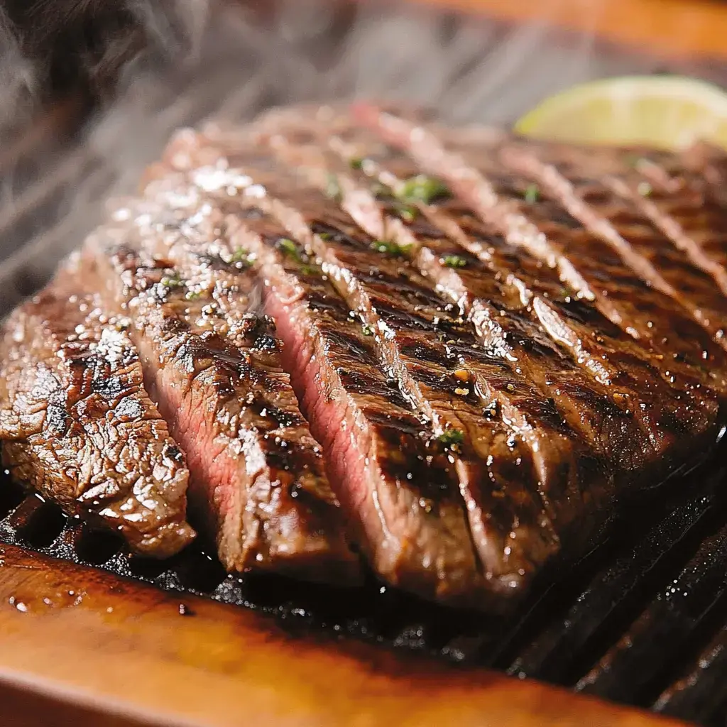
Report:
M570 214L583 222L587 230L598 236L609 246L615 249L624 263L628 265L643 281L653 289L661 292L670 300L676 302L680 308L688 312L710 336L723 348L727 348L725 331L721 324L723 316L715 310L713 294L710 286L705 287L702 278L688 263L688 259L673 254L669 241L659 235L648 224L634 206L629 210L624 203L620 210L611 210L611 214L627 214L632 224L643 225L642 239L638 234L622 235L621 230L614 225L613 217L608 215L608 205L619 206L618 198L608 194L608 189L596 182L593 186L598 189L600 198L589 199L587 194L580 194L571 183L569 177L562 174L556 166L543 164L530 150L523 146L505 147L501 151L501 158L505 164L529 175L553 193ZM590 203L590 204L589 204ZM606 207L605 214L600 214L598 206ZM552 218L552 215L551 215ZM643 237L646 236L646 240ZM668 254L671 253L670 257ZM664 265L666 262L666 265ZM675 265L675 263L678 263ZM664 265L662 270L656 265ZM670 279L667 279L669 276ZM692 281L695 289L686 288L688 281ZM678 284L679 289L672 284ZM687 294L683 294L683 290ZM691 295L690 295L691 293Z

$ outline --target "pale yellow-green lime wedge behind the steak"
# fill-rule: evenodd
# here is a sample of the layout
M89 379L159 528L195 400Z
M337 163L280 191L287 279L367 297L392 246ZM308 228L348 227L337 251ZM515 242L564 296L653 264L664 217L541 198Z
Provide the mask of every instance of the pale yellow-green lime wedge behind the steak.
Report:
M621 76L548 98L515 131L573 144L679 150L703 140L727 148L727 93L683 76Z

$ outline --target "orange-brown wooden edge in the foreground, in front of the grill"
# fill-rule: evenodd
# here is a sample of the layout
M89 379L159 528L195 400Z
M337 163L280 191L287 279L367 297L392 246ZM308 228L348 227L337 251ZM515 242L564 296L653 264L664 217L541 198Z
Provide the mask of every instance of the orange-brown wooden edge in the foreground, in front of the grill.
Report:
M270 616L0 547L0 723L677 725L485 670L284 632ZM39 701L21 699L32 689ZM8 696L9 695L9 696ZM48 710L49 698L61 707ZM45 701L44 701L45 700Z

